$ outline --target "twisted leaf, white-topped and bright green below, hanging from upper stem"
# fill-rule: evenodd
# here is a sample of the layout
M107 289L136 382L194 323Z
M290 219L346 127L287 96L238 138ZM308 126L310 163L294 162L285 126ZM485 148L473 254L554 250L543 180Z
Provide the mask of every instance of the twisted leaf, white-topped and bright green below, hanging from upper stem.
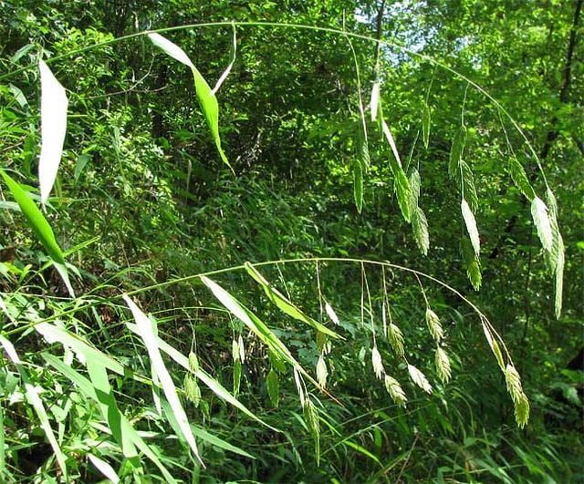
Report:
M221 138L219 136L219 104L217 103L214 91L211 90L207 81L204 80L201 73L196 67L194 67L193 62L184 53L181 47L173 44L170 40L164 38L160 34L148 34L148 36L150 37L152 44L160 47L168 56L182 62L185 66L191 67L199 106L201 106L201 109L203 110L203 115L211 131L215 147L219 152L219 156L221 156L221 160L224 160L224 163L233 171L233 168L229 164L229 160L227 160L227 157L224 154L224 150L221 148Z

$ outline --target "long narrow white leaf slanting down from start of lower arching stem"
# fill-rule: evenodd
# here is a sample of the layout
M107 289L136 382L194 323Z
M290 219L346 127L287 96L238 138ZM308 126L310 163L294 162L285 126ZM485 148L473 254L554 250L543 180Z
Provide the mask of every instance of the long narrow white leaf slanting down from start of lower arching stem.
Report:
M164 365L164 361L162 360L162 355L160 353L160 348L158 347L158 337L154 334L152 330L151 320L141 312L141 309L134 304L134 302L128 297L128 295L122 295L124 301L130 307L130 311L134 316L134 320L136 321L136 326L138 329L138 334L141 336L144 345L146 345L146 349L148 351L148 355L151 359L151 364L156 371L157 377L160 379L162 384L162 389L164 390L164 395L168 400L170 406L172 407L172 413L178 422L178 425L183 432L183 437L189 444L189 447L193 451L193 455L197 458L202 464L203 460L199 456L199 450L197 449L197 444L194 440L193 431L189 425L189 419L184 412L184 408L181 405L181 400L179 399L176 393L176 387L172 382L172 376L166 369Z

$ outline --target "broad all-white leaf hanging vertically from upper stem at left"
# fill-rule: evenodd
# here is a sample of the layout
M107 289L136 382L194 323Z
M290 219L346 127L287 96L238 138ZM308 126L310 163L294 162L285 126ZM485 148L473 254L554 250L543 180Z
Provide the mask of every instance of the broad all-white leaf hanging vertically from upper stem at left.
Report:
M63 143L67 131L68 99L65 88L41 59L40 70L40 135L41 148L38 161L38 180L40 200L43 205L53 189L57 178L58 165L61 162Z

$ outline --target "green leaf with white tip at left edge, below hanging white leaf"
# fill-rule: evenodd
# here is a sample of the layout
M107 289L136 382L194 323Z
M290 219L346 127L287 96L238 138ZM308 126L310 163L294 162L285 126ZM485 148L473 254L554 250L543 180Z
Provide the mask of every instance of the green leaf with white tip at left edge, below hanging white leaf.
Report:
M61 252L61 249L55 240L55 234L53 233L51 226L48 224L47 219L45 219L41 211L38 210L35 202L30 200L26 191L24 191L20 185L10 177L10 175L2 169L0 169L0 175L4 178L5 183L8 185L8 189L18 203L20 210L25 214L26 220L33 232L35 232L37 239L43 244L48 255L53 260L55 268L67 286L69 294L71 297L75 297L73 287L69 282L63 252Z

